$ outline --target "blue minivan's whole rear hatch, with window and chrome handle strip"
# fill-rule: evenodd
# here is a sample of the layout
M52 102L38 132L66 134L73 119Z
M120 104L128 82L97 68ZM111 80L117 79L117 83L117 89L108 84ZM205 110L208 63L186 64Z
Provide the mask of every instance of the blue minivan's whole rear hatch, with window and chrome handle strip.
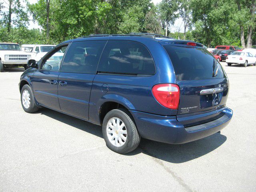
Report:
M226 105L228 78L210 52L194 42L166 42L163 47L170 56L176 84L180 87L177 118L217 111ZM211 113L209 118L215 115L218 114Z

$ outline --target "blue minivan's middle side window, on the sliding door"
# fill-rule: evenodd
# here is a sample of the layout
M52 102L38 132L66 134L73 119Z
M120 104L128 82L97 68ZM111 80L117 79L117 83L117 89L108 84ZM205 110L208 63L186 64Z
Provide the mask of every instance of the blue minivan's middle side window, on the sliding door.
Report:
M61 72L96 74L106 41L73 42L63 60Z

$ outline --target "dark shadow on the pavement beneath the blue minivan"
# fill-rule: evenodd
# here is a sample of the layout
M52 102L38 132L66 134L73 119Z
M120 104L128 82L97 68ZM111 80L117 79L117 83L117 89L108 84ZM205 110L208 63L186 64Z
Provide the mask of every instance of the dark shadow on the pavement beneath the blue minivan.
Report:
M47 108L40 109L38 113L103 138L101 126L94 125L84 120L80 120L78 118L74 118ZM133 156L139 153L144 153L148 156L152 156L153 158L158 158L167 162L184 163L212 152L221 146L226 140L226 136L220 133L213 134L194 142L176 145L142 138L138 148L126 155Z

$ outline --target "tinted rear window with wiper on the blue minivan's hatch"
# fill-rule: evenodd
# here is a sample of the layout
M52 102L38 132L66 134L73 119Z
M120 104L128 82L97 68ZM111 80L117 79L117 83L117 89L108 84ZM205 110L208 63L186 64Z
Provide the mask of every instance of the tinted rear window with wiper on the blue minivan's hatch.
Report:
M164 46L175 70L176 80L226 77L218 61L204 48Z

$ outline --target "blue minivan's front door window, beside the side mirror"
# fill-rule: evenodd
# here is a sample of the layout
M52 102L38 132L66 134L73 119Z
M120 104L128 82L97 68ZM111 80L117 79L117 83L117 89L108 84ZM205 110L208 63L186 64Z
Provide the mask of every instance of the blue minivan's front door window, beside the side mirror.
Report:
M59 71L62 58L68 45L62 46L51 52L43 61L41 69L48 71Z

